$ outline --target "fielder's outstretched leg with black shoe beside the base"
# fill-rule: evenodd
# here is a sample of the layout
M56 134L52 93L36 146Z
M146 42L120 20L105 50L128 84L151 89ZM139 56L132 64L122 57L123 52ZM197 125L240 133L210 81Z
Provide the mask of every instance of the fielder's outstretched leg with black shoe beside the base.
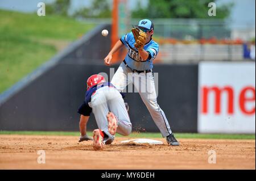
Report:
M156 126L159 128L163 137L166 137L166 140L171 145L179 145L179 142L176 140L172 134L170 125L168 123L167 117L164 114L164 111L160 108L157 102L157 95L155 91L155 81L152 73L147 74L134 74L135 78L134 86L139 91L142 101L146 105L152 119L154 120ZM139 78L136 78L139 77ZM138 86L139 85L139 86Z

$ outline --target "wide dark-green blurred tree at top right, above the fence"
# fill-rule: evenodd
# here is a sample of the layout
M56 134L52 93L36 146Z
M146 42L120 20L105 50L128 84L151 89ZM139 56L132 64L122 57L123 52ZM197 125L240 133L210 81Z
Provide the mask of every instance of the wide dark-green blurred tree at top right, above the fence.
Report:
M132 18L218 18L225 19L230 15L233 3L216 7L216 16L208 16L209 2L216 0L148 0L143 8L138 2L137 9L131 12Z

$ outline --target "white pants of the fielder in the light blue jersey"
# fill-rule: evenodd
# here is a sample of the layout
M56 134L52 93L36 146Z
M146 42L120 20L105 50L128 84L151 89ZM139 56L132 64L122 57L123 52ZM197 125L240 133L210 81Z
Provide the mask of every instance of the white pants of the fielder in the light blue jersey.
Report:
M163 110L157 103L155 91L155 81L152 72L150 73L133 73L122 62L112 78L111 83L121 92L131 92L133 83L142 101L146 104L148 111L156 126L159 128L163 137L171 134L171 128ZM128 86L128 89L127 89ZM130 89L131 88L131 89Z

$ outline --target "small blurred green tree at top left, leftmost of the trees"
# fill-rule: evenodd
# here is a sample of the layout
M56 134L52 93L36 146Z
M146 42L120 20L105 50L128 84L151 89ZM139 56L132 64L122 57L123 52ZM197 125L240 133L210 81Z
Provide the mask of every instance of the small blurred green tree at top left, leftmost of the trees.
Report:
M46 4L46 13L68 16L68 9L70 5L71 0L56 0L51 4Z

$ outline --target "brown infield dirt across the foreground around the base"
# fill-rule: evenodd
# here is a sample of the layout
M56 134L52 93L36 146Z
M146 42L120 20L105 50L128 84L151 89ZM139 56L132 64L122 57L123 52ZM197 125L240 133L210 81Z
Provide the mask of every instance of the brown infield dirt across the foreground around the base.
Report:
M0 169L255 169L255 140L179 139L180 146L121 144L94 151L76 136L0 135ZM38 163L38 150L46 163ZM208 163L209 150L216 163Z

